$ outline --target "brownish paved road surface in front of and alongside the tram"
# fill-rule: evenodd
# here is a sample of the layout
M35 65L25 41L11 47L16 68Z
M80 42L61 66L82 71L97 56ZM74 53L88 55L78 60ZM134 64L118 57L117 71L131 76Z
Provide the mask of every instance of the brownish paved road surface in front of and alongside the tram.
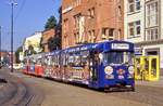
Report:
M98 92L18 71L9 75L29 91L29 105L20 106L163 106L162 83L137 81L136 92Z

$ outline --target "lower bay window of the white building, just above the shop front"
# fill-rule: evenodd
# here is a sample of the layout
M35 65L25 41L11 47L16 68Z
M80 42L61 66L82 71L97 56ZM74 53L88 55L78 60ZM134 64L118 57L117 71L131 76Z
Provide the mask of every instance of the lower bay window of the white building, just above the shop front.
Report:
M159 28L150 28L146 30L146 40L147 41L152 41L152 40L158 40L160 39L159 37Z

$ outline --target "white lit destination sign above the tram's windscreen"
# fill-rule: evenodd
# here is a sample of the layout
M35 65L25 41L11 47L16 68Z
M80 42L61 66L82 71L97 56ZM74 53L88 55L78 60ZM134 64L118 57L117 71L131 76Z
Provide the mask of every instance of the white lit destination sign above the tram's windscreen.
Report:
M112 49L113 50L128 50L129 44L127 44L127 43L112 43Z

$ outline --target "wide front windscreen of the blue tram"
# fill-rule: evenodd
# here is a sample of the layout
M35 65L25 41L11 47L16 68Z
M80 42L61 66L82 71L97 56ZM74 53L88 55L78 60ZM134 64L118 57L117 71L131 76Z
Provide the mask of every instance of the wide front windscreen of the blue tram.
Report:
M134 53L131 52L108 52L104 53L104 62L111 65L134 65Z

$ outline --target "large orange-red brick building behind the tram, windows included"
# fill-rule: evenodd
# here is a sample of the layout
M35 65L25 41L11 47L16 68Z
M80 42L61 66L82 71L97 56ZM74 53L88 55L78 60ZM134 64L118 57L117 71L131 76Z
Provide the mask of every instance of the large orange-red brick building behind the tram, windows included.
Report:
M122 40L124 0L62 0L62 48Z

